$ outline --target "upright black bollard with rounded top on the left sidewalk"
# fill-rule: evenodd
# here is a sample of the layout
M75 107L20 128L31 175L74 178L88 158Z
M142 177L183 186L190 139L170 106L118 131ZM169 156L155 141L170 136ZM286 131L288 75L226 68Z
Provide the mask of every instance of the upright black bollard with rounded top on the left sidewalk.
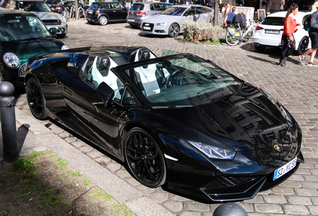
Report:
M17 160L19 152L16 140L14 86L10 82L0 83L0 111L3 143L3 158L7 162Z

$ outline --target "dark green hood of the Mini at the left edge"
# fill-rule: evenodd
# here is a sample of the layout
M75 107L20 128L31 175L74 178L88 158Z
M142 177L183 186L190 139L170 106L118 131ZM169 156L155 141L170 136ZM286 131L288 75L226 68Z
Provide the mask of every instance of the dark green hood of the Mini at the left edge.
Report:
M61 50L62 45L64 43L55 38L47 38L0 43L0 49L3 53L14 53L19 59L27 59L43 52Z

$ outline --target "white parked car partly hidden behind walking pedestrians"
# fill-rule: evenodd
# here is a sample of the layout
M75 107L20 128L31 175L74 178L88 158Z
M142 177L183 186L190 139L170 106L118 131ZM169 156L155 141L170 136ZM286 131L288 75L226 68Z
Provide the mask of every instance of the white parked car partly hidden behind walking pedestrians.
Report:
M293 33L295 38L295 45L298 54L304 53L311 47L311 40L308 31L303 29L303 21L307 15L312 12L299 11L297 13L296 22L300 26L296 26L296 32ZM271 13L256 26L253 35L253 45L256 50L264 50L268 46L281 46L281 35L284 27L282 18L285 17L286 11Z

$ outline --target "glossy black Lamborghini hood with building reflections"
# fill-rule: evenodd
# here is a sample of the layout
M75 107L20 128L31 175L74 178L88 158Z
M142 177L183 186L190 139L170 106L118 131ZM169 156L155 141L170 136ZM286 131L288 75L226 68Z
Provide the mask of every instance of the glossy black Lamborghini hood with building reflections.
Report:
M265 148L268 142L281 139L288 128L277 106L257 89L200 106L158 111L180 122L187 139L209 144L212 137L238 151Z

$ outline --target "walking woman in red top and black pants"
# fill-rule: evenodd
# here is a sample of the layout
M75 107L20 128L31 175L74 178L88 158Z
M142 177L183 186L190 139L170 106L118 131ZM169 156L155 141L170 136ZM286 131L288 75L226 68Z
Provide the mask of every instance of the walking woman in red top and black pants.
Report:
M287 10L286 16L282 19L284 21L284 28L281 36L281 45L283 48L280 54L279 66L287 66L286 59L296 48L293 33L295 32L295 27L300 25L300 23L296 23L297 12L298 6L292 3Z

